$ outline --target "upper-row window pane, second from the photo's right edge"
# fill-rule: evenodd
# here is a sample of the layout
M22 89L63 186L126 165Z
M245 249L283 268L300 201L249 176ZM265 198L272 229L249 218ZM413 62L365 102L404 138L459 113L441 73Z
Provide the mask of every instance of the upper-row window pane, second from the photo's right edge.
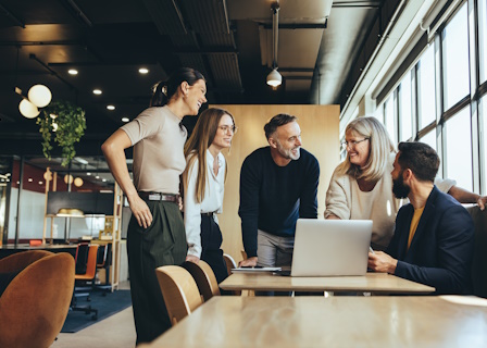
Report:
M450 109L469 95L469 23L466 3L442 33L444 108Z

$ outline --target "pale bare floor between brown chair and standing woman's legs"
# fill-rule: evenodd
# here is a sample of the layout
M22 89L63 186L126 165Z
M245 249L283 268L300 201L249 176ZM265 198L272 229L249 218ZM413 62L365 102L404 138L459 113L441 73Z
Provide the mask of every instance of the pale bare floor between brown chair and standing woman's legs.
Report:
M128 289L128 282L120 286ZM52 348L125 348L135 347L135 326L132 307L92 324L75 334L59 334Z

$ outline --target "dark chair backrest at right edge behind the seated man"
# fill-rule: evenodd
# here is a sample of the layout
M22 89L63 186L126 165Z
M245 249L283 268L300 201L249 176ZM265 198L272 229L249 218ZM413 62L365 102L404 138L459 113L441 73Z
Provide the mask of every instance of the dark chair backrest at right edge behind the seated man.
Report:
M466 209L475 227L475 249L472 262L472 285L474 295L487 298L487 210L477 206Z

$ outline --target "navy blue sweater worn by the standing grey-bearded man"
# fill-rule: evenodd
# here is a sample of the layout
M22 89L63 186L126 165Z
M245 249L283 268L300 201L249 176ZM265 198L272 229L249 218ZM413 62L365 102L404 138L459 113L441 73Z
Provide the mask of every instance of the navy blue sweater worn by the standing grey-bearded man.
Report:
M297 161L278 166L264 147L250 153L240 172L240 207L244 248L257 256L257 231L276 236L295 235L298 217L317 219L320 165L301 148Z

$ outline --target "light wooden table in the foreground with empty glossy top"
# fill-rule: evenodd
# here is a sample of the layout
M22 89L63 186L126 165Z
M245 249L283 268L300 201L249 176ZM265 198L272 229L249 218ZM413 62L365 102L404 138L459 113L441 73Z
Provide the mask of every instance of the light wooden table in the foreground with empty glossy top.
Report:
M487 300L466 299L213 297L141 347L487 347Z

